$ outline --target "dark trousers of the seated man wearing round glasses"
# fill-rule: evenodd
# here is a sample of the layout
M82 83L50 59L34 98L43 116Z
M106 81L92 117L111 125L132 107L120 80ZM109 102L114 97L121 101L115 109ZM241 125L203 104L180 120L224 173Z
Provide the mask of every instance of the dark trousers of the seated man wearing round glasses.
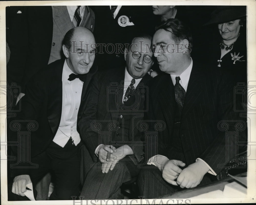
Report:
M123 199L120 186L139 173L139 168L125 157L108 173L102 173L102 163L92 166L88 172L80 196L83 199Z

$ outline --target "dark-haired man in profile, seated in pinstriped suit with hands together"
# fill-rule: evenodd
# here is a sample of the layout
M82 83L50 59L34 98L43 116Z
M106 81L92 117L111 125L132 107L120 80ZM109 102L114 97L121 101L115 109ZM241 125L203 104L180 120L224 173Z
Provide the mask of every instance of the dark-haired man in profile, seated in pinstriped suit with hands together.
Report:
M233 83L224 73L194 62L191 43L189 28L177 19L160 25L153 37L154 56L164 73L149 85L146 120L162 121L165 129L145 150L151 153L139 176L140 196L145 198L216 180L222 171L219 165L227 162L226 152L232 151L236 140L227 141L221 131L221 122L228 124L229 132L237 129ZM245 130L246 123L240 123ZM154 127L149 124L149 129ZM238 141L247 141L242 132Z

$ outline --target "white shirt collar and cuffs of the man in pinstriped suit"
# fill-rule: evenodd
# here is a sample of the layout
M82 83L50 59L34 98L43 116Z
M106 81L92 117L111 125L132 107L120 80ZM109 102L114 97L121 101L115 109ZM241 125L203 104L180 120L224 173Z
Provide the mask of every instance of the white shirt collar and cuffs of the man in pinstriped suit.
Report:
M187 92L187 88L188 88L188 81L189 81L189 78L190 78L190 74L191 74L192 67L193 67L193 60L192 60L192 58L191 58L191 63L190 63L190 65L186 68L186 70L183 71L182 74L179 75L179 77L180 77L179 83L180 83L180 85L184 88L184 90L185 90L186 92ZM177 77L177 75L170 74L170 76L171 76L173 85L175 85L175 84L176 84L176 79L175 79L175 78ZM156 156L161 156L161 157L163 157L163 158L167 158L167 157L165 157L165 156L163 156L163 155L156 155ZM155 157L156 157L156 156L151 157L151 158L148 160L147 164L153 164L153 165L155 165L154 161L155 161ZM167 159L168 159L168 158L167 158ZM214 171L204 160L202 160L202 159L200 159L200 158L197 158L196 161L197 161L197 160L203 161L203 162L208 166L208 168L210 169L210 171L208 171L208 173L210 173L210 174L212 174L212 175L215 175L215 176L217 175L217 174L215 173L215 171ZM156 166L156 165L155 165L155 166Z

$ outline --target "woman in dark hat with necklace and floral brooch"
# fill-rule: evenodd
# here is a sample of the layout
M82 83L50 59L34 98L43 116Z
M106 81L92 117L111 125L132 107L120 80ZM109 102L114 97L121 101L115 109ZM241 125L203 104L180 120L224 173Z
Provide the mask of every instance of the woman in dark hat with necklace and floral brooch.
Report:
M220 38L212 41L206 61L227 70L236 82L247 82L246 6L220 6L205 25L215 24Z

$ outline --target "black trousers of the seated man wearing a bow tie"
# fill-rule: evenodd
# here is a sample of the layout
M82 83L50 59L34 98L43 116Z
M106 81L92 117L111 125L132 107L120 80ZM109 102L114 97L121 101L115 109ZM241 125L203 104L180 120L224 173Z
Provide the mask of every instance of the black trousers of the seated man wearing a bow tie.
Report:
M31 169L29 173L35 198L37 182L49 171L52 171L56 178L50 200L73 200L71 196L79 196L80 143L77 146L72 145L70 139L62 148L52 142L44 152L31 159L31 162L38 164L38 168ZM8 184L8 200L29 200L12 193L12 182Z

